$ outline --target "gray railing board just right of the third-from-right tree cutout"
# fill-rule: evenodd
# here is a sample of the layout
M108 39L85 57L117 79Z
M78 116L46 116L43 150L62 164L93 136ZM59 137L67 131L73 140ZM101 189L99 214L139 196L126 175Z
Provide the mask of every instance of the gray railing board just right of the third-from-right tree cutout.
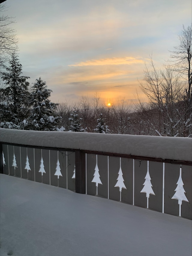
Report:
M125 188L122 188L121 201L133 204L133 159L121 158L121 168Z

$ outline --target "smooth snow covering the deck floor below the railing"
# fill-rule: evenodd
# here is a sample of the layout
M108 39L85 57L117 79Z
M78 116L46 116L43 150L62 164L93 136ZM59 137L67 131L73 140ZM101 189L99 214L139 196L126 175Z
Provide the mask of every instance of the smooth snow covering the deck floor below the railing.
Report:
M191 221L0 174L0 255L190 256Z

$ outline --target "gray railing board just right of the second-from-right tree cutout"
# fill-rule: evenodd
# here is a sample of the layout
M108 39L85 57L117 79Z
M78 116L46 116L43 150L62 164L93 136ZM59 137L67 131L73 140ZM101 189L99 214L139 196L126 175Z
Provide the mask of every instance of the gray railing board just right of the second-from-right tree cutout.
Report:
M162 212L163 208L163 163L149 161L149 174L151 177L154 195L149 196L149 208Z

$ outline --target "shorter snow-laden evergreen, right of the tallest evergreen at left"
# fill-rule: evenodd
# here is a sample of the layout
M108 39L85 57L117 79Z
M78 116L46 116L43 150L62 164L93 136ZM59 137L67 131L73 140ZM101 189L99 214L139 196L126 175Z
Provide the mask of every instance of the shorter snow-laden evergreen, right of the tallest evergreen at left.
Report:
M46 82L36 79L36 83L32 86L31 115L24 120L24 129L35 131L57 131L57 126L61 117L55 115L54 111L57 103L49 100L52 90L47 89Z

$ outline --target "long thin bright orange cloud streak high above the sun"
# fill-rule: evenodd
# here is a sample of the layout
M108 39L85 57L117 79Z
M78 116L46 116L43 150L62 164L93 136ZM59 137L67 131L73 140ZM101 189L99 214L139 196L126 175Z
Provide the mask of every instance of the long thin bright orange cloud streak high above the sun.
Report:
M131 65L135 63L145 63L142 59L136 59L133 57L123 57L123 58L106 58L106 59L92 59L92 60L87 60L85 62L77 62L72 65L68 66L103 66L103 65Z

